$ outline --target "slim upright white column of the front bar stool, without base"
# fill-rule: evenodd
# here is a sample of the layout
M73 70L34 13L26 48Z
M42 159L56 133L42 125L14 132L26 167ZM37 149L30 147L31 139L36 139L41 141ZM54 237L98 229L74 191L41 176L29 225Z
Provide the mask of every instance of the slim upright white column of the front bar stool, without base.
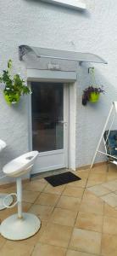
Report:
M22 181L20 177L17 177L16 184L17 184L18 218L23 218L22 216Z

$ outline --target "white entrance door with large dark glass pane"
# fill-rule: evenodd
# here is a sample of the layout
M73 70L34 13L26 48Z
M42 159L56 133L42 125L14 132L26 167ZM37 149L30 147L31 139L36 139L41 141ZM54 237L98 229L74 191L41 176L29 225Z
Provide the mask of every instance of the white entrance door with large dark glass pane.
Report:
M68 167L69 86L31 83L32 150L39 156L32 173Z

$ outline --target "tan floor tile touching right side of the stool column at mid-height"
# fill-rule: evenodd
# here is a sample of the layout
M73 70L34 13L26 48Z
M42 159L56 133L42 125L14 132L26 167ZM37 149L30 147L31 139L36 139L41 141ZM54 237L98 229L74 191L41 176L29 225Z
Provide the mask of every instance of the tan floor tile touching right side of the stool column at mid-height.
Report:
M34 203L40 192L23 190L23 201Z

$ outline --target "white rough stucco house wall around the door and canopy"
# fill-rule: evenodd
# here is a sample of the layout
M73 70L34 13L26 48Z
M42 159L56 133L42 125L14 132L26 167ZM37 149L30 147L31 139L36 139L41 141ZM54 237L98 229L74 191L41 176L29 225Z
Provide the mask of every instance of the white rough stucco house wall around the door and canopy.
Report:
M117 1L86 0L87 11L79 12L42 3L39 0L0 1L0 69L11 58L14 73L26 78L19 61L18 46L29 44L53 49L92 52L109 64L97 64L96 79L103 84L105 96L97 105L81 105L82 90L90 84L87 68L78 68L75 165L91 163L110 104L117 98ZM28 150L28 114L25 98L9 108L0 93L0 137L8 143L0 157L1 166ZM97 161L102 158L97 157Z

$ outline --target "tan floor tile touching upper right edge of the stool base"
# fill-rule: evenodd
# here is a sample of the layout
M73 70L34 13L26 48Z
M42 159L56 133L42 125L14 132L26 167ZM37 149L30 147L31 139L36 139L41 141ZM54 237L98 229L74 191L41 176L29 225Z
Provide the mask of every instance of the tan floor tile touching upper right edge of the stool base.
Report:
M41 206L41 205L33 205L30 209L31 213L36 214L37 217L41 218L41 220L47 220L51 213L53 212L53 207Z

